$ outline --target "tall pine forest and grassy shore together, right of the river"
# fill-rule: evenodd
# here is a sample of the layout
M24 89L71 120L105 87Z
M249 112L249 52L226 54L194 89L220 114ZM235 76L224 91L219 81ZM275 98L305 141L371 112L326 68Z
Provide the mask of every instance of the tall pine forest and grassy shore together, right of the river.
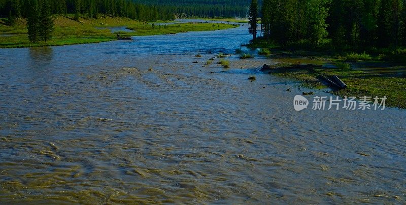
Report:
M263 0L260 6L257 2L251 0L248 31L253 40L247 47L260 49L262 55L283 50L277 54L297 59L264 66L269 73L313 88L324 87L322 82L334 86L329 77L335 75L348 87L331 93L387 96L387 105L406 108L406 5L402 1ZM301 56L328 63L303 65Z

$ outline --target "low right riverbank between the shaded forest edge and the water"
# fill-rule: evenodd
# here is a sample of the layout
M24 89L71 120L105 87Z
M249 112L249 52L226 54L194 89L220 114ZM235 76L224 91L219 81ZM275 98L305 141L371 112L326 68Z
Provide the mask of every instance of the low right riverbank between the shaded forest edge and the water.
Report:
M389 107L406 108L406 66L401 62L382 60L378 56L349 53L331 56L330 53L306 51L286 51L279 49L258 50L267 53L269 60L283 63L271 63L269 74L301 81L310 89L325 89L328 85L320 80L338 76L348 85L346 89L332 89L330 93L339 96L386 96ZM315 64L311 61L317 61ZM306 64L307 66L300 66ZM257 64L257 66L261 66Z

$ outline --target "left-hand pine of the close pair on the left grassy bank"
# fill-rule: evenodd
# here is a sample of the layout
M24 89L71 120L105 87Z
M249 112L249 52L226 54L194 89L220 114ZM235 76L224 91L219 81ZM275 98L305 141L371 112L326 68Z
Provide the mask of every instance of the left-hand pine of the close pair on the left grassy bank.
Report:
M32 43L36 43L39 40L40 29L40 8L37 0L32 0L30 4L30 13L27 17L28 39Z

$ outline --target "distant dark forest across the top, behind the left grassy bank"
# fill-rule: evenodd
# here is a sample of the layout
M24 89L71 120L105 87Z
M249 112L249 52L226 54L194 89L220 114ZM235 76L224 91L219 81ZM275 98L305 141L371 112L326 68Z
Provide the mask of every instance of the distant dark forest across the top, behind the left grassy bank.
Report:
M27 17L33 0L0 0L0 17ZM41 5L42 0L39 1ZM51 14L97 14L142 21L172 20L178 17L245 17L249 0L51 0Z

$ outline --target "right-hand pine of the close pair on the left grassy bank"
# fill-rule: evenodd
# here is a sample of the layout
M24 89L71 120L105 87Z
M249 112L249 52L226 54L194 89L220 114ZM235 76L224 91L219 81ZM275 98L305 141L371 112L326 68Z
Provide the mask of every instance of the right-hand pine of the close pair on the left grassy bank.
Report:
M48 0L42 0L41 15L40 15L40 40L47 42L52 39L52 32L54 30L54 19L51 17L51 9Z

